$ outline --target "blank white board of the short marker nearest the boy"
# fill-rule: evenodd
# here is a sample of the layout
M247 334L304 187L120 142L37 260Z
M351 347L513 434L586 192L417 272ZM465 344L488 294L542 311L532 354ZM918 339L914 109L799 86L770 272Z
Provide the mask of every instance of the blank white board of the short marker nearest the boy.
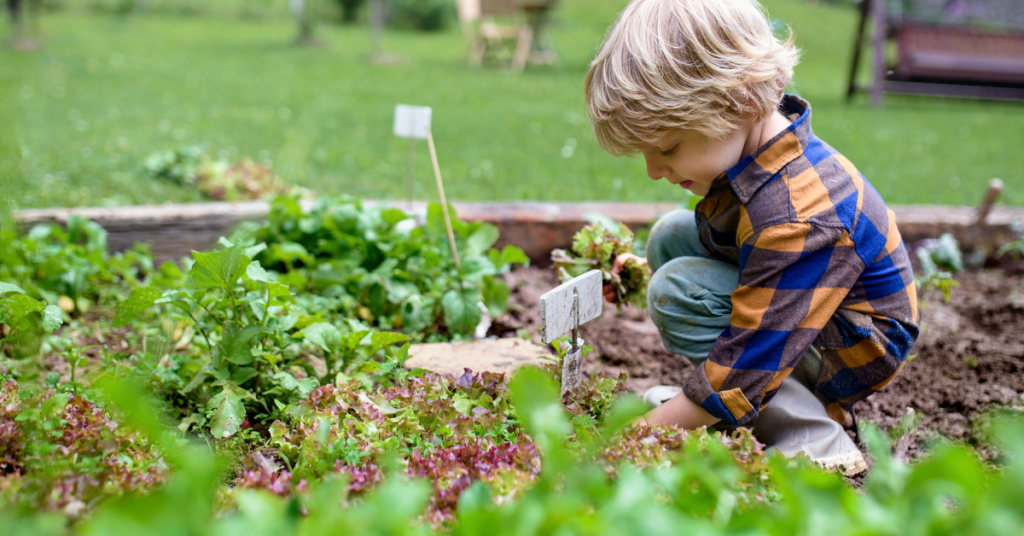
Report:
M601 271L592 270L541 296L541 336L545 343L572 331L577 322L572 313L574 295L580 296L581 326L601 316Z

